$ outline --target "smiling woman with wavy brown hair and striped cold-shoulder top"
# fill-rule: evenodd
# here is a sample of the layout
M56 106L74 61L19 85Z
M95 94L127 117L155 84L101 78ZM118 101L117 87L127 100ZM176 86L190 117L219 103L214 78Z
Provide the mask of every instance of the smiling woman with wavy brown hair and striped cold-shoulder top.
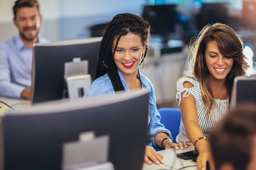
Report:
M199 152L198 169L206 170L209 161L213 170L207 140L227 114L234 78L245 75L248 65L238 35L221 23L205 26L191 50L184 77L177 82L182 121L176 141L192 142Z

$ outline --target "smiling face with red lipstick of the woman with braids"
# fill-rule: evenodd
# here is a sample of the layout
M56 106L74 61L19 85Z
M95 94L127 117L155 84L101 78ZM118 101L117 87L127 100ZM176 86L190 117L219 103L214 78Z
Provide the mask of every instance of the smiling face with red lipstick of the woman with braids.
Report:
M113 41L112 52L117 42L117 37ZM137 74L142 55L145 53L141 37L138 34L128 33L122 36L116 47L114 61L122 75Z

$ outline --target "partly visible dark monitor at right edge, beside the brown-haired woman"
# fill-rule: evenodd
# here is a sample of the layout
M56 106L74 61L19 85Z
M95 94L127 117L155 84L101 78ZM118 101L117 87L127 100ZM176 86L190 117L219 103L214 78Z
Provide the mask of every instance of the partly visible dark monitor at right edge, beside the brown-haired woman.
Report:
M256 75L239 76L234 80L230 108L243 102L256 102Z

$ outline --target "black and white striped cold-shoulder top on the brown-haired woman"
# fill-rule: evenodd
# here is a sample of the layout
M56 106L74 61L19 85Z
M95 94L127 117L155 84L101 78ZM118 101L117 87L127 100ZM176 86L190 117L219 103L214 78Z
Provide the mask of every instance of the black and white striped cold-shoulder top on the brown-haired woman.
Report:
M191 82L192 85L194 85L194 87L184 88L184 82ZM226 100L214 99L216 104L214 108L214 113L210 113L209 119L207 119L207 116L205 116L207 109L204 107L200 84L194 76L183 77L182 79L180 79L180 81L177 84L177 91L178 92L176 100L179 103L179 106L182 97L188 97L190 94L192 94L195 97L196 108L198 112L198 122L204 133L204 136L206 136L207 139L209 139L212 128L218 125L218 123L224 118L224 116L228 112L229 98L227 98ZM184 91L185 93L181 97L181 93L183 93ZM180 121L180 132L176 137L176 142L194 142L189 141L189 139L187 138L185 127L183 125L182 120Z

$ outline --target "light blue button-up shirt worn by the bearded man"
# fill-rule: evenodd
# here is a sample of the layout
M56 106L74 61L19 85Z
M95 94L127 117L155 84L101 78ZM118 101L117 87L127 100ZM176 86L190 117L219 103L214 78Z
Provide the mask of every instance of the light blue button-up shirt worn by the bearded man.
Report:
M38 42L49 40L38 37ZM31 87L32 57L19 35L0 44L0 96L20 98L24 88Z

